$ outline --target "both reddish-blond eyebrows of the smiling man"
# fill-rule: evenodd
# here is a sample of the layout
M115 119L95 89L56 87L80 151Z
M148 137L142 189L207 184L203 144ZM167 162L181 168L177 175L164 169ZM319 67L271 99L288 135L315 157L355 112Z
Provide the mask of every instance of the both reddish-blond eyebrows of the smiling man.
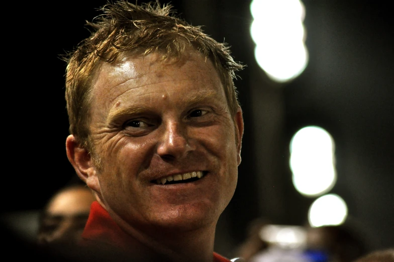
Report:
M181 102L183 104L193 105L198 104L206 100L213 99L217 95L217 92L210 90L204 92L196 92L195 94L191 94L181 98ZM126 108L119 108L116 110L111 111L107 117L107 124L113 123L120 117L124 115L138 115L144 112L152 111L147 107L126 107Z

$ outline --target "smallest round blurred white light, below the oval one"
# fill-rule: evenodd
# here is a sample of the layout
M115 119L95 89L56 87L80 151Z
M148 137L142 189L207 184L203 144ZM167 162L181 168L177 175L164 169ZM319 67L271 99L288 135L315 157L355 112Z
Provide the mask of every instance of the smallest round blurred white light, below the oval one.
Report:
M308 220L313 227L340 225L347 217L345 201L338 195L329 194L316 199L309 208Z

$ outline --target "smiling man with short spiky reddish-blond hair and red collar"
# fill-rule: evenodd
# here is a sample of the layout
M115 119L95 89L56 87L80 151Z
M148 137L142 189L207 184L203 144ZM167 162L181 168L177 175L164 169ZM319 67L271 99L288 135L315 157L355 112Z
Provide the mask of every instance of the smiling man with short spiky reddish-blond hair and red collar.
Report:
M171 6L102 11L65 59L67 157L96 198L81 245L143 261L229 261L214 238L241 162L242 65Z

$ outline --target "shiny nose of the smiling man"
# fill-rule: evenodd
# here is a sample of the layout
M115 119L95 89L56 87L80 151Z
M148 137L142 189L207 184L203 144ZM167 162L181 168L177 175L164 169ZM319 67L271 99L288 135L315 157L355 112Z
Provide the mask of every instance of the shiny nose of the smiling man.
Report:
M180 159L195 150L190 144L186 127L179 122L168 122L157 147L157 154L166 159Z

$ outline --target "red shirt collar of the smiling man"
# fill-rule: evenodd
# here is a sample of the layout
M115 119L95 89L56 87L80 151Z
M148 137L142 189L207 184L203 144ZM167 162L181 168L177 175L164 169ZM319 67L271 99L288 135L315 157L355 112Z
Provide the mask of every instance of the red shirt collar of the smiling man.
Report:
M117 246L127 250L129 235L111 218L110 214L97 201L90 206L90 213L82 233L82 245L91 242ZM214 252L214 262L230 262L226 257Z

